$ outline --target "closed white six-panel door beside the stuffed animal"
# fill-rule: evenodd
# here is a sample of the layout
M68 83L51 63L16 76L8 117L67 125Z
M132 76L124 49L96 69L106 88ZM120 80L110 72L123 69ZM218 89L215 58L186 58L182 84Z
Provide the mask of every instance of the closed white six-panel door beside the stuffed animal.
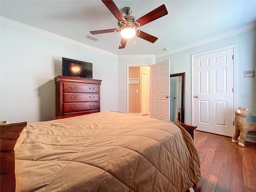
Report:
M233 136L234 49L194 57L194 124L198 130Z

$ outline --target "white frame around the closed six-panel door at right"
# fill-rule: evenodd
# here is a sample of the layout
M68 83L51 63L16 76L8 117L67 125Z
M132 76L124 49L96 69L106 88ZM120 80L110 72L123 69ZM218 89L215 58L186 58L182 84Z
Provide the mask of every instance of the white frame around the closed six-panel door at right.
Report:
M212 52L218 52L218 51L221 51L221 50L226 50L226 49L230 49L230 48L233 48L234 49L234 71L233 71L233 85L234 85L234 110L237 108L237 92L236 92L236 44L234 45L230 45L230 46L226 46L226 47L222 47L222 48L218 48L218 49L214 49L214 50L209 50L209 51L206 51L206 52L202 52L202 53L198 53L198 54L193 54L191 55L191 120L192 120L192 124L194 124L194 118L195 118L195 114L194 114L194 107L195 107L195 103L194 103L194 95L195 95L195 74L194 74L194 57L196 56L200 56L200 55L203 55L203 54L209 54L209 53L212 53Z

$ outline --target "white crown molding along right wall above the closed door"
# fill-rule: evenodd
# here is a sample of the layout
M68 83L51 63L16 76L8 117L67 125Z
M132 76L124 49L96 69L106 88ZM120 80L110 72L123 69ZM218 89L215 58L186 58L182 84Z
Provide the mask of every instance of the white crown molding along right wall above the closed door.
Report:
M216 35L216 36L212 36L210 38L206 38L206 39L198 41L198 42L194 42L194 43L191 43L191 44L188 44L188 45L185 45L185 46L182 46L182 47L164 52L164 53L157 54L156 58L167 56L167 55L170 55L170 54L173 54L173 53L176 53L176 52L184 51L184 50L187 50L187 49L190 49L190 48L194 48L194 47L197 47L197 46L200 46L200 45L211 43L211 42L214 42L214 41L217 41L217 40L228 38L228 37L238 35L238 34L241 34L241 33L247 32L247 31L255 30L255 29L256 29L256 22L254 22L252 24L242 26L242 27L237 28L235 30L231 30L231 31L228 31L228 32Z

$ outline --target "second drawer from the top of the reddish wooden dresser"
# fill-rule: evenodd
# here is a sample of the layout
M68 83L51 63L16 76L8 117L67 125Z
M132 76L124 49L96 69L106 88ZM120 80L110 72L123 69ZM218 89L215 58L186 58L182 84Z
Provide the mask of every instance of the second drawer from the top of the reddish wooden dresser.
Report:
M63 93L63 102L98 101L99 94L88 93Z

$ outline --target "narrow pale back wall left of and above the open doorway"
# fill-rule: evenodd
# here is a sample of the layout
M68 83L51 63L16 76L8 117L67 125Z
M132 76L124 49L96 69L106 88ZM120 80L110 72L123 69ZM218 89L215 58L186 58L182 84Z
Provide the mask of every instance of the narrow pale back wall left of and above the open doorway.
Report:
M143 58L144 57L144 58ZM156 63L154 56L118 56L118 111L127 112L127 65L128 66L149 66Z

